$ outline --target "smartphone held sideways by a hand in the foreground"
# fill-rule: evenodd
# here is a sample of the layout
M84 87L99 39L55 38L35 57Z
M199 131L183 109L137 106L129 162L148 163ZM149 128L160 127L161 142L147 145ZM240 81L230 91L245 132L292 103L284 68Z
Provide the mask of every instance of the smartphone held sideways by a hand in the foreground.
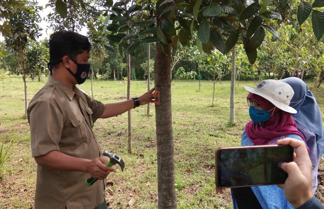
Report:
M283 184L288 174L283 162L293 161L290 145L220 147L215 151L215 184L235 188Z

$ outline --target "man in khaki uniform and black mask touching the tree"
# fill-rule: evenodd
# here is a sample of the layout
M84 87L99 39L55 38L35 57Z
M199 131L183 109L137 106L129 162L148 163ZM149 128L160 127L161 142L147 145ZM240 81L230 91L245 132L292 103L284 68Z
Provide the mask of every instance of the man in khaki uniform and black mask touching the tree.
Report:
M105 164L92 131L98 118L109 118L154 102L154 88L138 98L103 104L75 85L87 79L90 42L86 36L60 31L49 40L51 75L30 101L32 157L37 163L35 209L101 209L104 179L114 168ZM91 187L85 180L98 179Z

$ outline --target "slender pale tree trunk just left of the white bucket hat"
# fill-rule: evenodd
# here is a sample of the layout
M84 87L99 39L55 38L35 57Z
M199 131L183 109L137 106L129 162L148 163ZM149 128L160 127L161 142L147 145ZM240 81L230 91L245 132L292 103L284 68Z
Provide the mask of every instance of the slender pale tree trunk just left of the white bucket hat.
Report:
M229 121L235 122L235 73L236 73L236 54L235 46L232 48L232 75L231 75L231 92L229 100Z

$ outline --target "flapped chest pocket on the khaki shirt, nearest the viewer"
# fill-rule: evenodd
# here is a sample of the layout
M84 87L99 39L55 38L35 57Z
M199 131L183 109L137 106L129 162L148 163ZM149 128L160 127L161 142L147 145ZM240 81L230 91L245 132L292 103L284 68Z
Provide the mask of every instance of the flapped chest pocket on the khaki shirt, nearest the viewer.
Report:
M87 137L87 129L86 129L86 121L82 114L77 115L71 120L71 133L73 136L73 140L75 144L78 144L86 139Z

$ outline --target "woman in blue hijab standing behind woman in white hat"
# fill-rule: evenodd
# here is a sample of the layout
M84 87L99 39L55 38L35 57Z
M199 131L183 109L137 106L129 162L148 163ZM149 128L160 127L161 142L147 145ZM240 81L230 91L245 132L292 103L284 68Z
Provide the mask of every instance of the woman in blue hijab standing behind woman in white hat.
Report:
M324 154L322 114L313 93L308 90L303 80L290 77L280 81L289 84L295 92L289 106L297 110L297 113L292 114L292 116L295 119L297 129L303 133L309 147L308 155L312 162L314 194L317 189L319 156Z

